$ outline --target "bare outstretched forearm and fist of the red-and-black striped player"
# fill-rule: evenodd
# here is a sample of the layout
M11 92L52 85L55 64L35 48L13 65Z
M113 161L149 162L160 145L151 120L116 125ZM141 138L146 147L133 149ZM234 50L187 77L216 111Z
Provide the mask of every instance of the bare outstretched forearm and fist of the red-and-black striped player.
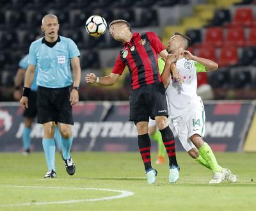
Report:
M112 72L111 74L106 75L104 77L97 77L95 74L90 73L86 75L85 81L91 84L97 82L98 84L101 84L101 85L111 86L115 84L115 82L118 80L119 77L120 77L119 74L113 74Z

